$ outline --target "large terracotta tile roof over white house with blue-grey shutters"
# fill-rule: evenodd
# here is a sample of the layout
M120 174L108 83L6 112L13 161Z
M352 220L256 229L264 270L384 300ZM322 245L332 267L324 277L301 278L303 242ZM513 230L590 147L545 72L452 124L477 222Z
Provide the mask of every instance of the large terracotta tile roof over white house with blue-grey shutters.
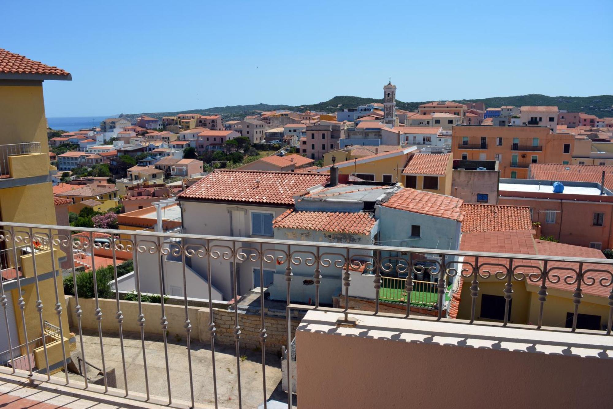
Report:
M294 195L327 180L327 174L317 173L216 170L177 198L292 206Z

